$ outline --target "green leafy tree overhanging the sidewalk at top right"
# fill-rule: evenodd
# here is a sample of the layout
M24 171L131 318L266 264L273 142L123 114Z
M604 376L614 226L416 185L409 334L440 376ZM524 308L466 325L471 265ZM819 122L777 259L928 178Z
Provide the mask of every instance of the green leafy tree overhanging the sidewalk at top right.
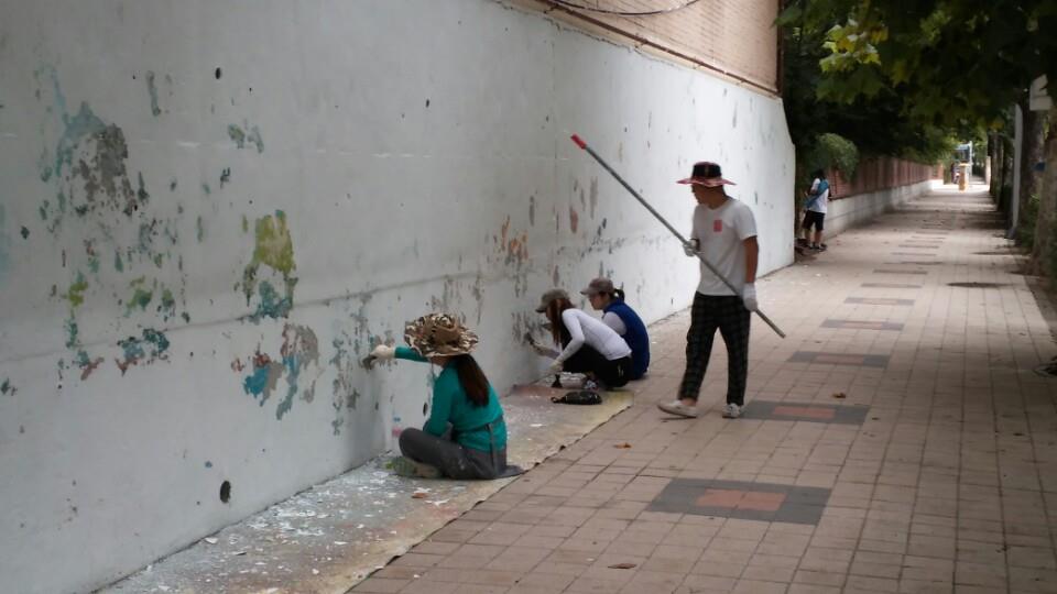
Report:
M1002 127L1039 75L1057 81L1054 0L793 0L778 22L825 31L819 99L894 98L905 121L962 138ZM1047 144L1057 140L1055 120ZM1055 150L1047 147L1047 172L1057 167ZM1039 193L1036 253L1045 254L1057 188Z

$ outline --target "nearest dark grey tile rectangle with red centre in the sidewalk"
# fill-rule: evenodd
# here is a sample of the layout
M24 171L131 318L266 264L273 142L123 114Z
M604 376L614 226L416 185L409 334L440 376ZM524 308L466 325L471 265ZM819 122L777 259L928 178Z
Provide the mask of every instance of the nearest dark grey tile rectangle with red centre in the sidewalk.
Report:
M647 510L817 525L829 493L775 483L673 479Z

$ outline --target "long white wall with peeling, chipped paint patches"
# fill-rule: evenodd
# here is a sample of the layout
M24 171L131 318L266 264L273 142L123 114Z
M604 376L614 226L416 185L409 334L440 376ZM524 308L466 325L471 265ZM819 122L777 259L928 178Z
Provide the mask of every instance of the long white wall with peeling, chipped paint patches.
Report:
M537 14L3 4L3 587L105 584L391 447L428 370L358 361L405 319L465 315L502 391L552 285L687 306L695 263L571 132L680 229L674 180L720 161L791 261L778 100Z

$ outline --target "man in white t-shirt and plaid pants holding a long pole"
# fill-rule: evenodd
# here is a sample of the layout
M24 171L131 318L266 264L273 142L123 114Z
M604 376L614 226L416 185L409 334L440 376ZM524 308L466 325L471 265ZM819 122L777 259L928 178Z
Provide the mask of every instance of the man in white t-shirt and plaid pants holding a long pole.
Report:
M749 374L749 322L756 310L756 221L744 202L723 190L727 184L715 163L697 163L689 184L697 199L694 232L683 246L686 255L707 258L735 290L731 290L701 262L701 279L690 309L690 329L686 333L686 371L678 399L661 403L661 410L682 417L697 417L697 397L708 369L716 329L727 344L727 407L723 417L737 419L745 404Z

